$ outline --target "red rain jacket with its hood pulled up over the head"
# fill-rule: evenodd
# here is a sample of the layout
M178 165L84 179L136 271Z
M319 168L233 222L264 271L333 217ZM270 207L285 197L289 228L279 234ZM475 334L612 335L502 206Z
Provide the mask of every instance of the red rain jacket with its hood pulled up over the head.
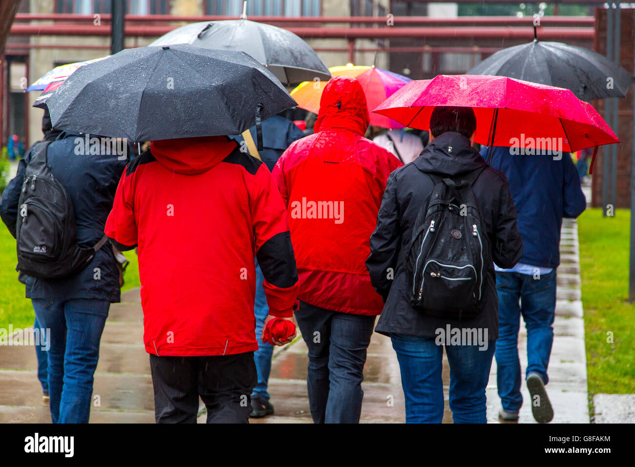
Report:
M315 134L293 142L272 175L287 205L300 300L379 315L383 303L364 265L386 180L401 162L363 137L366 97L353 78L324 87Z

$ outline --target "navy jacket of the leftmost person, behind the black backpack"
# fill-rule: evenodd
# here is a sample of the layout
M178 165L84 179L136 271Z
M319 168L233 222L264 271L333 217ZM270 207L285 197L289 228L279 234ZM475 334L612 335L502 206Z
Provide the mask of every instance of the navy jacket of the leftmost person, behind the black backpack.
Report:
M62 183L73 202L77 243L81 247L91 248L104 236L106 219L127 161L120 161L117 155L84 155L82 152L85 151L76 151L76 138L84 140L83 136L76 133L62 132L48 146L46 160L53 176ZM0 217L14 237L20 189L29 161L30 151L18 163L17 175L7 185L0 202ZM95 268L99 268L99 271L95 271ZM119 302L119 272L110 243L106 242L97 251L93 261L74 276L58 280L27 277L27 298Z

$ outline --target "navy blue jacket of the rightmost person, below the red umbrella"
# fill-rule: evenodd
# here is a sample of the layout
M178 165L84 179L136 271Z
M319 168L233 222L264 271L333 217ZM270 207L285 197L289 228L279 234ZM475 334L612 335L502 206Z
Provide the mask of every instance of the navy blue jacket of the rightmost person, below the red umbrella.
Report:
M481 156L488 160L487 147ZM554 160L551 155L511 154L509 147L494 147L490 165L509 180L523 238L520 262L558 267L562 218L575 219L587 205L571 156L563 152Z

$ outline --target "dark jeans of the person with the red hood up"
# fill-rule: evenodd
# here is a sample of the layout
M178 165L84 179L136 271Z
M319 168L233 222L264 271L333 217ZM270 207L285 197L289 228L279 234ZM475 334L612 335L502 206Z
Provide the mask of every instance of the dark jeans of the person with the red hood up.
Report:
M375 316L300 302L295 318L309 348L307 389L314 423L359 423L361 382Z

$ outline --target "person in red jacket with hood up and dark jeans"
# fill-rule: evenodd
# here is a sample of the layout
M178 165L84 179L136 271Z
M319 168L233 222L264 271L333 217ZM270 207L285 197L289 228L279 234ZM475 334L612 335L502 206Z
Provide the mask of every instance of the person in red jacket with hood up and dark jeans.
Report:
M388 176L401 163L363 137L364 91L332 78L316 133L293 142L272 175L287 206L300 278L295 317L309 347L307 386L315 423L358 423L366 348L383 302L364 261Z

